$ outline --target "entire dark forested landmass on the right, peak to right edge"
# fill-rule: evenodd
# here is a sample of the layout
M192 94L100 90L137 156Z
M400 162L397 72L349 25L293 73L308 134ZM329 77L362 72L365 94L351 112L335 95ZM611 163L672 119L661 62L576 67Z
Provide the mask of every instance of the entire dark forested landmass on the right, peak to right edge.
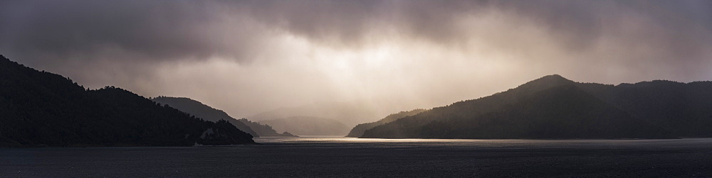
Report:
M545 76L367 129L360 138L712 137L712 82L578 83Z

